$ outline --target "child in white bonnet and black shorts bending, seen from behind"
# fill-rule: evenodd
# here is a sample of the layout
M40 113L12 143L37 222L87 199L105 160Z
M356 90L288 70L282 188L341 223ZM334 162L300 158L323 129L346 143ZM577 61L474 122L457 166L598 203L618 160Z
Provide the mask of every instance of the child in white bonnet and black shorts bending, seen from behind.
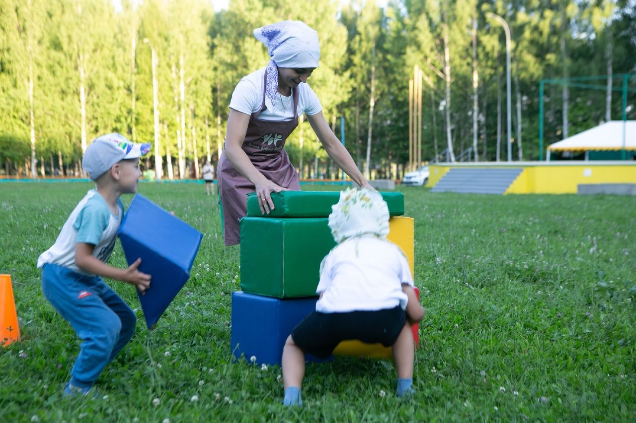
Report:
M282 352L284 405L302 405L305 353L328 358L340 342L358 339L393 347L397 396L413 393L413 333L424 318L398 246L387 241L389 208L370 189L347 189L332 206L329 228L338 245L322 260L315 311L287 337Z

